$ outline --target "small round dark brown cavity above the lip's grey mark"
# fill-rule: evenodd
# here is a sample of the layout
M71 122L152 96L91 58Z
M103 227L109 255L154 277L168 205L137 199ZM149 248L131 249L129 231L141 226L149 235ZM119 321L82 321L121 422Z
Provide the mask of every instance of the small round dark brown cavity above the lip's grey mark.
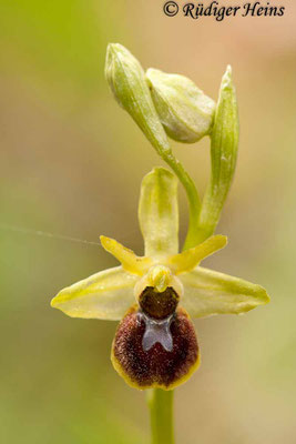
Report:
M139 297L141 309L154 319L165 319L176 310L178 295L171 286L164 292L156 292L153 286L146 286Z

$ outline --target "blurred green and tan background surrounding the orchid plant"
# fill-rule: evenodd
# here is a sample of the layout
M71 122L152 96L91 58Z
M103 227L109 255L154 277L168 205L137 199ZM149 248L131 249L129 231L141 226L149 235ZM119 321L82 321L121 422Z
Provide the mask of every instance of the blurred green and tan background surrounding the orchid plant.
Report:
M111 366L115 323L49 305L115 261L100 246L13 231L103 233L142 253L140 181L162 162L108 89L110 41L214 99L231 63L237 88L239 158L218 226L229 244L206 265L261 283L272 303L196 322L203 362L176 391L177 443L295 443L296 4L282 3L283 18L217 23L167 18L161 1L0 1L1 443L149 442L144 394ZM201 193L208 147L173 143ZM182 190L180 200L184 239Z

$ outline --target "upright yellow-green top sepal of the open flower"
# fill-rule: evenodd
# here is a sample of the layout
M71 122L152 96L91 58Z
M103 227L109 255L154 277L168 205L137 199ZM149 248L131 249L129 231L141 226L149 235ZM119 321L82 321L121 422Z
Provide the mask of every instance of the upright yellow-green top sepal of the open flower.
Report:
M177 180L164 168L154 168L142 181L139 221L145 255L159 258L178 251Z

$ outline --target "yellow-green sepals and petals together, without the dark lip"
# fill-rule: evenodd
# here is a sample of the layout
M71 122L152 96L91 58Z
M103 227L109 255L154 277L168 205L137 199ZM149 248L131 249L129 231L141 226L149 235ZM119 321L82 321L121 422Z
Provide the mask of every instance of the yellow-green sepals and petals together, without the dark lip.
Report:
M53 307L73 317L120 320L146 286L173 287L180 305L193 317L244 313L268 302L262 286L200 266L203 259L225 246L225 236L212 236L177 253L176 180L170 171L156 168L144 178L139 216L145 256L102 236L102 245L122 265L62 290L52 300Z

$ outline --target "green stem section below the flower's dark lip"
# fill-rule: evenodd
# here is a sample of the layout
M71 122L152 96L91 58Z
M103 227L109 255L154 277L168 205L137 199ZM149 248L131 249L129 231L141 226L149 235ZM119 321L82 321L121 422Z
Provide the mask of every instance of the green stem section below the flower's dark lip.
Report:
M151 389L147 393L152 444L174 444L174 391Z

